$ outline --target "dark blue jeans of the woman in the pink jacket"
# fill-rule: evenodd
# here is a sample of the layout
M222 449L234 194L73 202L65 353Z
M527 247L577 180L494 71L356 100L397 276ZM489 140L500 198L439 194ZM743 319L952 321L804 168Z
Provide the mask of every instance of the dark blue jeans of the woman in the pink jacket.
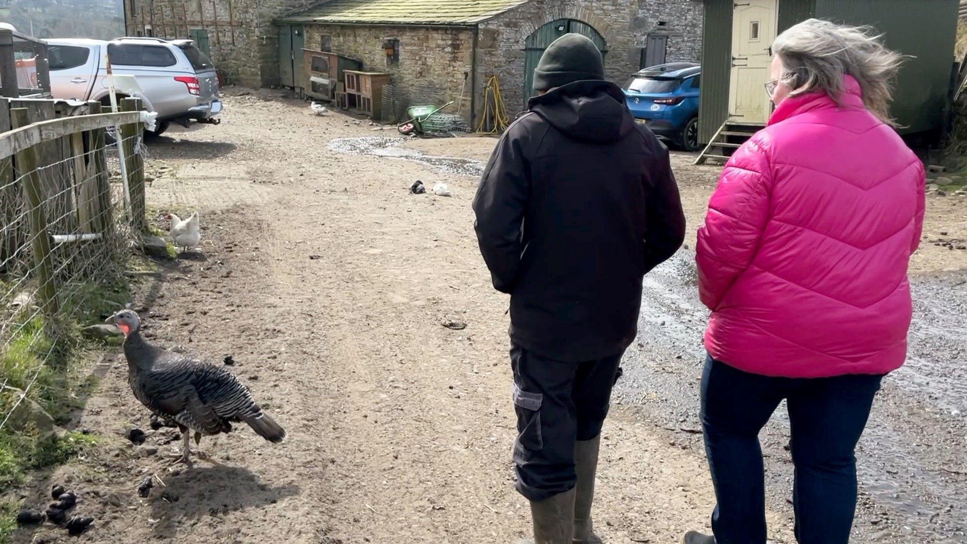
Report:
M759 431L779 403L789 408L793 506L801 544L846 544L856 511L856 444L882 376L770 378L706 360L702 426L718 504L718 544L765 544Z

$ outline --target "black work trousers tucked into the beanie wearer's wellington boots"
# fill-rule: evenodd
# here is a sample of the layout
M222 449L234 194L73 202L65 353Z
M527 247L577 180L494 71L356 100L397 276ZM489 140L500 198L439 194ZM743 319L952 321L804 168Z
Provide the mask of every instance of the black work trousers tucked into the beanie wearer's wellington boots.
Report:
M574 441L601 434L623 353L583 362L511 348L517 491L543 500L574 487Z

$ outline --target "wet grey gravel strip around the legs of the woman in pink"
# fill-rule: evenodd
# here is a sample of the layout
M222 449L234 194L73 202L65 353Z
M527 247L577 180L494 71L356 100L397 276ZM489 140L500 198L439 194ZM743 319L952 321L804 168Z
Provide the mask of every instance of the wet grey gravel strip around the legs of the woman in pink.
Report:
M694 253L645 279L638 340L615 399L697 450L699 378L708 312L698 300ZM859 542L967 542L967 315L964 278L913 281L916 317L906 365L884 379L858 448ZM960 286L959 288L956 288ZM959 317L958 317L959 316ZM774 508L791 507L792 466L784 406L763 430Z

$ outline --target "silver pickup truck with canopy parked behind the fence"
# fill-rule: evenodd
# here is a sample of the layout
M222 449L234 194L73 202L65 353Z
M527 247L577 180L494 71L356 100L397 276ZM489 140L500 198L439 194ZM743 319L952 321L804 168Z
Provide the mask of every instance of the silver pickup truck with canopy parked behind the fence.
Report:
M158 112L154 135L170 123L191 120L218 124L221 111L215 66L190 40L120 38L111 42L51 39L47 43L50 90L54 98L99 101L110 105L106 59L111 72L132 75L144 106ZM106 53L106 55L105 55ZM121 95L124 98L125 95Z

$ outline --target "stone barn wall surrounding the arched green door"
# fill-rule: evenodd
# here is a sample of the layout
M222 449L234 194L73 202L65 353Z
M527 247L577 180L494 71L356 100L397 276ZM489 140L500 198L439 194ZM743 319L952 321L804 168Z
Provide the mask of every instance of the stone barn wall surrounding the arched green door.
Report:
M619 84L638 70L649 34L668 36L667 60L701 57L701 0L533 0L481 24L479 78L499 76L513 116L524 107L524 45L544 23L571 18L604 38L605 76Z

